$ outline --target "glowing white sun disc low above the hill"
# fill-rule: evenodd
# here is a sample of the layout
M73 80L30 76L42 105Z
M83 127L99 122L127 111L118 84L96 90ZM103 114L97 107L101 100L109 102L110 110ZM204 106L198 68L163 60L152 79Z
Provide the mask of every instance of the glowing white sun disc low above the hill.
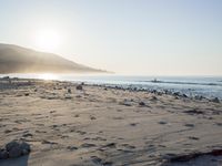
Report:
M34 34L36 46L40 51L54 52L61 44L61 35L54 29L41 29Z

